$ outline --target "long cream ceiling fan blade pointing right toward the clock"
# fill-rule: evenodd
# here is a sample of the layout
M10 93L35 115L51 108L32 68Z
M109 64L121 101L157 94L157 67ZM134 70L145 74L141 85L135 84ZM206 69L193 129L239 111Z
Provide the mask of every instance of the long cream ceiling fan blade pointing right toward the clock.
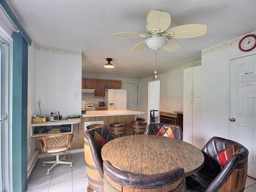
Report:
M207 26L204 24L189 24L168 29L165 34L173 35L172 38L190 38L204 35L206 31Z

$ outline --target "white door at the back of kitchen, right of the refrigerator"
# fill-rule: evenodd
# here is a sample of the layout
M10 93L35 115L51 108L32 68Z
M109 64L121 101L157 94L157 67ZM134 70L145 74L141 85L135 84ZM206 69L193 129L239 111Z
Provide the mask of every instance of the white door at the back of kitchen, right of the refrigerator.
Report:
M138 110L138 84L123 83L122 88L126 90L126 106L127 110Z

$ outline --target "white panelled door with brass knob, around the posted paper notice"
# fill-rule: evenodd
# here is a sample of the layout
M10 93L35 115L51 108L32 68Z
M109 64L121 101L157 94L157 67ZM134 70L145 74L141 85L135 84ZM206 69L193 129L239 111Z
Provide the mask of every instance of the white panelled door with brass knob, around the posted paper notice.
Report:
M249 150L248 175L256 178L256 97L239 97L241 73L256 71L256 55L230 60L229 138Z

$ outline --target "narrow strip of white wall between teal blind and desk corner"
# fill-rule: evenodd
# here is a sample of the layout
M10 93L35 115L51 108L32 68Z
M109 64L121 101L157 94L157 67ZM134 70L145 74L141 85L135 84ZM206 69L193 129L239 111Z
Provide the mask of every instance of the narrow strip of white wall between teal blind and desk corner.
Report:
M36 114L36 48L34 42L28 48L28 161L35 152L35 139L30 137L32 115Z

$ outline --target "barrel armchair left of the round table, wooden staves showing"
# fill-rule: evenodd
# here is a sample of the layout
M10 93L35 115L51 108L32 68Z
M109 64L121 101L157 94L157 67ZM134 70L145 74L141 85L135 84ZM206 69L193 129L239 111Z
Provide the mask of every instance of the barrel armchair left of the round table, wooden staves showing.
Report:
M103 160L101 148L113 139L110 131L105 127L96 127L84 132L84 157L88 175L87 191L103 191Z

